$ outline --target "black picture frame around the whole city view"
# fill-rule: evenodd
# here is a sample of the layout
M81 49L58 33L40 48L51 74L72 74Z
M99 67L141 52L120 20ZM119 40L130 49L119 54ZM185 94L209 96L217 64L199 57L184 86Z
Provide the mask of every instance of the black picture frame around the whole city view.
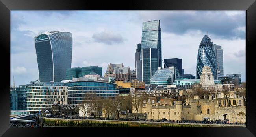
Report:
M246 128L10 128L9 127L9 83L10 73L10 10L246 10L246 81L247 116ZM96 135L119 136L142 134L158 136L167 134L192 136L244 136L256 135L256 101L253 90L254 47L256 39L255 0L129 0L129 1L87 1L87 0L1 0L0 2L0 45L2 82L0 91L0 135L3 136L72 136ZM8 58L9 57L9 58Z

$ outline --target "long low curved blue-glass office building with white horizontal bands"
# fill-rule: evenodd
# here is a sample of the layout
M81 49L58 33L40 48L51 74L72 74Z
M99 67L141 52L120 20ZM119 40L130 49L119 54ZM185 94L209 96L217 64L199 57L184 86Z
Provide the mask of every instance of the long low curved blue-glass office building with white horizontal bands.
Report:
M117 97L117 84L100 81L73 81L65 83L68 87L68 104L78 105L85 99L85 93L95 93L95 97Z

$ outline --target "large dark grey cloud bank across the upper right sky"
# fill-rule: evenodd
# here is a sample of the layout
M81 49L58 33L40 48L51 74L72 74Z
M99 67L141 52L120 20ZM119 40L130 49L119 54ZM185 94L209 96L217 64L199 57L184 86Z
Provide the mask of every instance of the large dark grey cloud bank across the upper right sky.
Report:
M182 35L200 30L212 38L245 39L245 12L228 16L224 11L144 11L138 15L143 21L160 20L163 32Z

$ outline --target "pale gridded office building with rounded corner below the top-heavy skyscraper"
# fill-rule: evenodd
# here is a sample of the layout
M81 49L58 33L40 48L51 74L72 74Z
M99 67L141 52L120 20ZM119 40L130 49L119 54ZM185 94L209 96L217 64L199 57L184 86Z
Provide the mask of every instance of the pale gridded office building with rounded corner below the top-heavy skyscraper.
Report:
M36 82L27 86L27 110L30 114L42 113L52 104L67 104L67 87L61 82Z

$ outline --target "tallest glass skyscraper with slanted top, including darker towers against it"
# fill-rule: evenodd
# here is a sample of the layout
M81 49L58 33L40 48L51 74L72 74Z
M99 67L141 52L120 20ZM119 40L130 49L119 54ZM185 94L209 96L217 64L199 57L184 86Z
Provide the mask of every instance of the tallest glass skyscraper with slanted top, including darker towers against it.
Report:
M135 53L137 79L149 84L157 67L162 67L160 20L142 23L141 44L137 47Z

